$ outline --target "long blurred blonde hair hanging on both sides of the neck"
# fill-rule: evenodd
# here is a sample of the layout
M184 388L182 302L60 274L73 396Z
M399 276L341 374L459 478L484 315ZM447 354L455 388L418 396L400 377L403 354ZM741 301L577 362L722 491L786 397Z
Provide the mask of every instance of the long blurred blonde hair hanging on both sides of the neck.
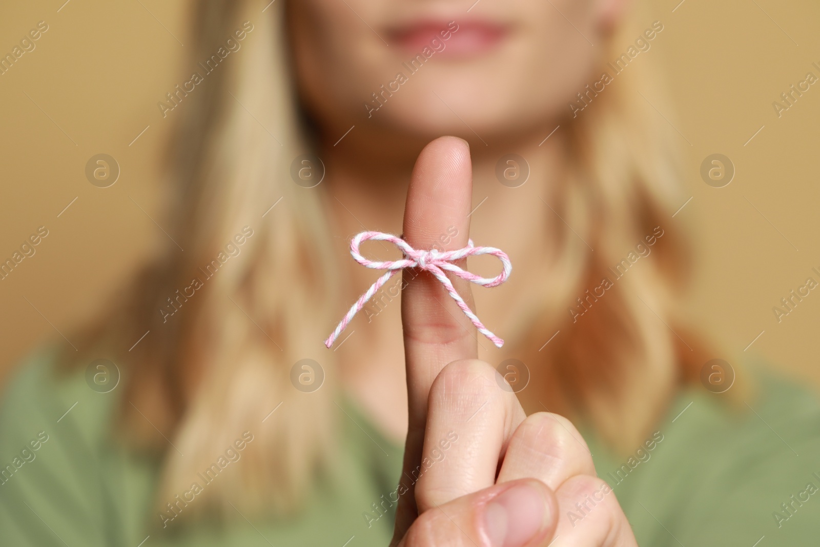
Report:
M180 130L169 156L175 193L167 218L185 250L168 244L139 276L130 308L108 314L88 337L89 347L128 347L149 330L125 353L131 366L122 408L131 439L156 442L156 427L173 445L160 439L160 510L244 431L253 441L243 449L244 464L230 467L235 478L207 485L202 497L210 503L198 501L185 514L229 501L243 513L295 510L315 477L330 470L337 442L333 353L321 341L338 319L329 312L341 309L339 281L321 266L335 260L323 186L305 189L289 176L294 158L312 147L290 84L285 2L260 16L266 3L198 2L195 60L211 57L242 22L253 30L242 50L169 114ZM681 376L676 335L664 321L676 321L681 253L670 210L682 201L674 147L663 136L669 128L635 90L638 84L658 100L653 79L638 74L648 65L639 59L629 66L589 112L567 123L571 182L558 189L557 215L544 212L554 221L555 267L541 295L543 314L517 341L525 355L544 335L566 329L525 358L544 363L531 367L529 390L544 394L550 410L590 421L620 448L643 439ZM244 226L253 235L239 254L180 300L177 290L191 285ZM617 280L595 313L570 322L567 308L576 297L654 226L665 230L655 259ZM180 313L160 312L169 303ZM326 385L311 394L289 385L290 369L302 358L316 359L326 372Z

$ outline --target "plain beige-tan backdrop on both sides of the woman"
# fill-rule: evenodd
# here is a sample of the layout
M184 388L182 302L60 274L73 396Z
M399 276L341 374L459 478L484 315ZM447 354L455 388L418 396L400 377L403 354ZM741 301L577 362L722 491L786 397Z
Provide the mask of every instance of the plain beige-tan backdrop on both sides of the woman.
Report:
M0 381L38 340L116 299L125 273L165 237L149 218L162 222L157 156L171 127L157 101L189 74L187 2L63 1L0 8L2 55L38 21L49 25L0 75L0 260L38 226L49 230L0 280ZM780 118L772 108L806 72L820 76L820 5L654 0L650 11L664 30L645 54L666 66L676 112L663 115L683 135L692 196L670 221L694 230L692 308L724 344L715 357L767 358L820 386L820 289L780 323L772 312L808 276L820 281L820 83ZM107 189L85 179L97 153L121 166ZM735 164L725 188L700 179L711 153Z

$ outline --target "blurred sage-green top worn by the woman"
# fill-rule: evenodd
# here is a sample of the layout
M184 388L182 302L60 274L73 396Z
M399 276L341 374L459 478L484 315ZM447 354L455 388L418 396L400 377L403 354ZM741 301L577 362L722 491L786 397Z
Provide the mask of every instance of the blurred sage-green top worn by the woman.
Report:
M0 546L388 545L392 513L374 520L373 504L394 492L402 447L351 401L339 415L344 472L317 485L298 517L162 528L153 504L160 462L112 440L121 389L97 393L84 371L58 379L54 365L48 351L34 355L0 403ZM586 435L639 545L820 544L820 402L753 370L761 390L749 406L681 390L632 458ZM583 526L590 511L592 502L566 517Z

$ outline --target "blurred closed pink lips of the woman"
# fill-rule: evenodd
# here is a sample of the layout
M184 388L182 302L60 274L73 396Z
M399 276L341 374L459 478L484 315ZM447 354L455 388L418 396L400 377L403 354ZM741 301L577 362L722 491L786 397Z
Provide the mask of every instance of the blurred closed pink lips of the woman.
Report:
M390 30L388 42L412 54L430 48L437 57L462 57L494 48L507 34L507 25L485 21L421 21Z

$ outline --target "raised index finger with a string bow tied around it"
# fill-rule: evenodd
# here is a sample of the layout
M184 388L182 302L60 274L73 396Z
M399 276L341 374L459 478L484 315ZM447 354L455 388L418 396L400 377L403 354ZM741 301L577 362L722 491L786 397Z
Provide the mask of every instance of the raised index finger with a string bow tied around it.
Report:
M472 200L472 167L467 142L435 139L421 150L413 167L404 208L403 239L417 250L450 251L467 246ZM454 262L465 267L464 260ZM476 328L447 290L427 271L404 270L402 325L408 381L408 436L401 481L409 490L399 500L396 540L417 516L412 472L421 463L430 385L441 369L457 359L476 358ZM470 284L449 276L472 306Z

